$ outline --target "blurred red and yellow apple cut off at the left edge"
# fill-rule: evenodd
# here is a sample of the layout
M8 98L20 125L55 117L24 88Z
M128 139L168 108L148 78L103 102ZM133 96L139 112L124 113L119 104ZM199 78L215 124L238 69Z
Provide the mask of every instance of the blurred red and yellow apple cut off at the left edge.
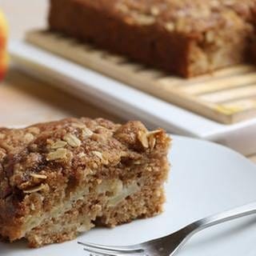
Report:
M6 18L0 10L0 81L4 78L8 66L7 45L7 23Z

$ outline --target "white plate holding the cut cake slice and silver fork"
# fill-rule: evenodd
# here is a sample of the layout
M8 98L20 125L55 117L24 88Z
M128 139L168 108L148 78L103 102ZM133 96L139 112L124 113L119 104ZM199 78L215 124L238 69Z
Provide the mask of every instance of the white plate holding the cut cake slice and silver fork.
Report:
M113 230L96 228L77 240L28 249L0 243L2 256L86 256L77 241L127 245L169 234L198 218L256 201L256 166L223 146L174 136L165 212ZM180 256L255 255L256 215L226 222L194 236Z

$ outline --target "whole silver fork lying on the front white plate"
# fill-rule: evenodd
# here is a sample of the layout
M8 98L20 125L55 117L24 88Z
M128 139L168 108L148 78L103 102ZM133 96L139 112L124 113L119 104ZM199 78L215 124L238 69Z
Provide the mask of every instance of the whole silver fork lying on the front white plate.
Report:
M173 256L181 247L198 231L204 230L209 226L214 226L222 222L228 222L235 218L241 218L256 213L256 202L225 211L221 214L215 214L210 217L202 218L197 222L183 227L181 230L169 234L162 238L142 242L134 246L102 246L89 242L78 242L84 246L84 250L90 255L103 256Z

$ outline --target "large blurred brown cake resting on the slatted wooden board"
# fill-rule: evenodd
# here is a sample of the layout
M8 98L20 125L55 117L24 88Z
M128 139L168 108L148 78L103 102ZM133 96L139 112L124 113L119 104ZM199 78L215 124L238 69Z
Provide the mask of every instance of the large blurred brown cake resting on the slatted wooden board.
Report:
M49 24L51 30L192 77L248 61L255 4L255 0L50 0Z

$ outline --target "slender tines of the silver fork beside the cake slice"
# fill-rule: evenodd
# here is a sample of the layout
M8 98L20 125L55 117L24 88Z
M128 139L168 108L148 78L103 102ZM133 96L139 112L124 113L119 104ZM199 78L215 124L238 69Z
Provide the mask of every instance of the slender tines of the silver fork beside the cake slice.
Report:
M144 252L142 248L136 248L134 246L102 246L90 242L78 242L78 244L82 246L86 246L86 250L102 250L106 253L111 253L114 255L120 255L120 254L141 254ZM115 254L118 253L118 254Z

